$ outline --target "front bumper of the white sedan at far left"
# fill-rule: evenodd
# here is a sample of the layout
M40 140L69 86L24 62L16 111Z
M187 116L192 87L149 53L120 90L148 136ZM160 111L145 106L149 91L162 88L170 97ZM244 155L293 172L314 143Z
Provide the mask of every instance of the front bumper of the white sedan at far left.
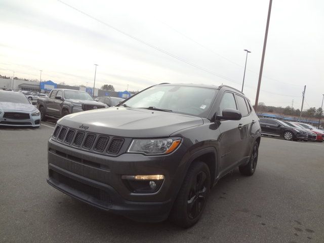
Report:
M4 117L5 112L12 113L29 113L29 118L27 119L12 119ZM14 126L14 127L39 127L41 126L41 115L32 116L31 114L36 112L35 110L32 112L23 112L23 111L15 111L15 110L6 110L1 111L0 113L0 126Z

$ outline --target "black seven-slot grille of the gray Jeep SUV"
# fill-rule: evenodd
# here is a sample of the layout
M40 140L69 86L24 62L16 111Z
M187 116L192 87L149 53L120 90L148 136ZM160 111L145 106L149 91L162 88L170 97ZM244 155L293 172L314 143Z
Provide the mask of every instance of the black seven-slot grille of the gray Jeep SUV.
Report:
M112 156L120 152L125 141L124 138L78 131L61 125L56 126L52 140L69 147Z

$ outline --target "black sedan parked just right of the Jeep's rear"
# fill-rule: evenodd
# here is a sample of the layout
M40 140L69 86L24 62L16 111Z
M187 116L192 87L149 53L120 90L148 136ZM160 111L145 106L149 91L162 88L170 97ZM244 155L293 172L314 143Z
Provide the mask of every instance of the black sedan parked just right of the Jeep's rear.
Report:
M308 139L308 134L302 129L289 127L281 120L272 118L260 118L262 135L282 137L286 140L304 140Z

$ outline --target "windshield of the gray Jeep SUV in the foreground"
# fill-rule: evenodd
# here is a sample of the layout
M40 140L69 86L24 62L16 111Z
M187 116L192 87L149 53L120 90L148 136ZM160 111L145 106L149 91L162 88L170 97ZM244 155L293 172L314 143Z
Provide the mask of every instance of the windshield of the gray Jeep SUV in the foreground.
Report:
M154 107L175 113L206 117L218 90L190 86L151 87L123 102L132 108Z

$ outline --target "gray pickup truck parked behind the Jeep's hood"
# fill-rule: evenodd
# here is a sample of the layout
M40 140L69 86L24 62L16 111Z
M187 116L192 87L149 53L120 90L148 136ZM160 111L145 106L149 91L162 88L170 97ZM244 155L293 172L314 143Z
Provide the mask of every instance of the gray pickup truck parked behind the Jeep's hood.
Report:
M106 107L106 104L95 101L88 93L77 90L54 89L48 97L37 99L42 121L47 117L61 118L71 113Z

